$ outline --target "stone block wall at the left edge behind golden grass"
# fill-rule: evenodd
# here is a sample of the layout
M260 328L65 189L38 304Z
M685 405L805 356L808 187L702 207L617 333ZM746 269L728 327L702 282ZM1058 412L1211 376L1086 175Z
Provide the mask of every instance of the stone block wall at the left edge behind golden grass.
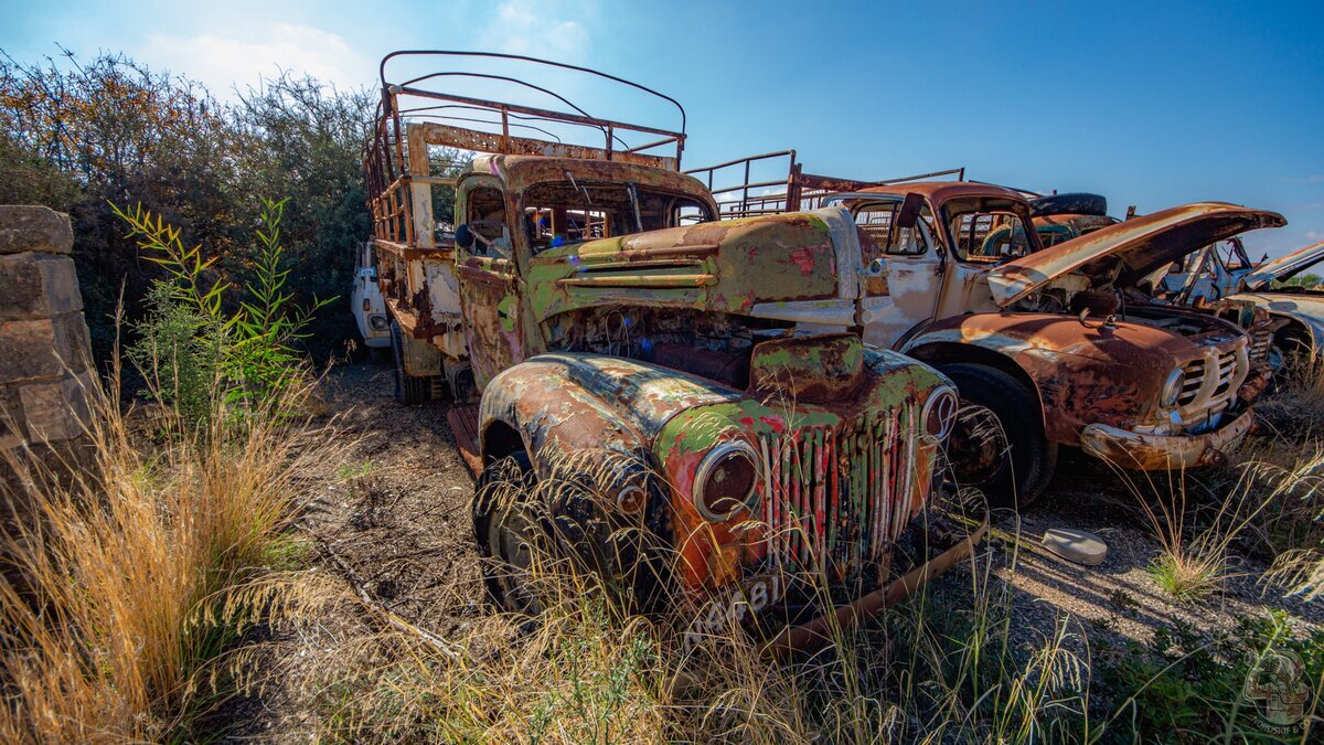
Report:
M95 378L73 243L68 215L0 205L0 448L82 440Z

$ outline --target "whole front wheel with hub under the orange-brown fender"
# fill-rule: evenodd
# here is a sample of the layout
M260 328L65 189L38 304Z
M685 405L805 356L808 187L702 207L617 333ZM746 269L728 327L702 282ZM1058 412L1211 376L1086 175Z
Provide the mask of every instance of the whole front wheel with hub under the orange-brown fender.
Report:
M947 445L957 481L982 490L990 506L1029 506L1049 485L1058 461L1057 443L1043 435L1038 399L1019 380L986 365L944 365L941 371L961 396Z

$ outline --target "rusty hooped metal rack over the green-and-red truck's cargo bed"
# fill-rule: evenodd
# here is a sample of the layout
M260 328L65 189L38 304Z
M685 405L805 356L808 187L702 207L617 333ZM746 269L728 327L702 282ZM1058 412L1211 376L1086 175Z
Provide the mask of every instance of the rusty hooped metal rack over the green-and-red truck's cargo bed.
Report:
M679 130L645 125L632 125L589 115L567 97L547 87L516 77L473 70L438 70L395 82L388 77L388 66L402 57L436 57L442 60L481 60L527 64L532 69L560 69L584 73L616 82L662 99L675 107L681 117ZM681 103L647 86L602 73L591 68L553 62L524 54L496 52L455 52L406 49L381 58L381 99L377 102L373 134L367 142L363 167L368 186L368 205L372 212L373 237L401 251L417 248L433 251L430 190L448 186L453 179L432 175L428 147L444 146L475 152L506 155L545 155L559 158L585 158L620 160L679 170L685 150L686 114ZM535 91L555 101L564 110L528 106L508 101L489 101L434 90L429 84L444 78L495 81ZM563 134L592 133L602 138L602 146L564 142L552 129ZM514 133L514 134L512 134ZM545 135L532 137L532 134ZM629 144L625 138L647 135L649 142ZM657 151L674 147L673 154Z

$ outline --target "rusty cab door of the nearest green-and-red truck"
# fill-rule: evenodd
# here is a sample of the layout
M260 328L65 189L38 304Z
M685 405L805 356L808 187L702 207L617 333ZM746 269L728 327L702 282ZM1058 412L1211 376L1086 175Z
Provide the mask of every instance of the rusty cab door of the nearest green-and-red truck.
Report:
M457 194L455 277L465 317L465 339L482 391L498 372L524 361L523 304L508 219L514 204L499 180L477 175Z

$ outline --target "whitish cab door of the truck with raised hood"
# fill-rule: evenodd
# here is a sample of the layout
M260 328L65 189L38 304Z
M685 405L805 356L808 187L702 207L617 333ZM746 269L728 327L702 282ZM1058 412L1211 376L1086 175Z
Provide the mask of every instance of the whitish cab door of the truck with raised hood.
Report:
M927 208L911 220L899 219L904 204L898 196L851 208L861 243L865 342L888 349L933 318L943 281Z

